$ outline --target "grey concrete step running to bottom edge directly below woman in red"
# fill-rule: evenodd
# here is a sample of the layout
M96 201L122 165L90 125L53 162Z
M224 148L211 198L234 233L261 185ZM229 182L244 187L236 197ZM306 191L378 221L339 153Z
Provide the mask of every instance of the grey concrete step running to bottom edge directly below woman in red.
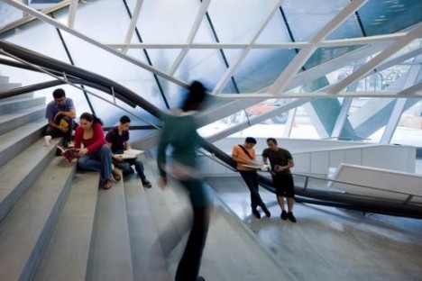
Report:
M63 212L32 280L87 280L98 181L96 172L78 172L73 178Z

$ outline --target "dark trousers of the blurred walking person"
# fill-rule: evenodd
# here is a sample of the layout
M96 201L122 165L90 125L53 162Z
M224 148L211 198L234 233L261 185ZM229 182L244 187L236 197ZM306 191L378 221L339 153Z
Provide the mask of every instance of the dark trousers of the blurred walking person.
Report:
M181 184L185 186L188 191L196 190L197 188L204 188L202 183L197 180L182 181ZM202 198L202 196L205 196ZM206 244L206 235L209 227L209 213L211 203L206 197L205 192L195 193L190 196L190 203L193 208L193 222L189 233L188 242L182 258L180 258L178 270L176 272L176 281L196 281L201 266L202 253ZM203 205L205 206L198 206Z

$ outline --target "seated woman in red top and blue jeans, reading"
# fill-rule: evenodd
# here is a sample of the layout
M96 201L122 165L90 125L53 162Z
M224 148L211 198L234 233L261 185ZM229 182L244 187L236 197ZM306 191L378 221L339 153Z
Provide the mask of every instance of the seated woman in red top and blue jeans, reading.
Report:
M91 113L82 113L79 123L75 131L78 168L100 172L101 185L104 189L110 189L111 176L117 181L121 176L112 168L112 151L105 141L103 122Z

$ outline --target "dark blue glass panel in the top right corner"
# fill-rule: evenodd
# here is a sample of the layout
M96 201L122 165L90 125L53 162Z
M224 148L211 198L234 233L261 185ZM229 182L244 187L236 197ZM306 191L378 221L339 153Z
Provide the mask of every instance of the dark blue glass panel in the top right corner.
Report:
M422 21L422 1L368 1L359 9L366 35L399 32Z

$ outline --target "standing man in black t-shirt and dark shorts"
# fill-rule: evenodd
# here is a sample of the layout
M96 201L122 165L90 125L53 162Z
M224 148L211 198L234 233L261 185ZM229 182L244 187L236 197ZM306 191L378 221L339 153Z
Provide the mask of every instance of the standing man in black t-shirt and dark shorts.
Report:
M290 168L295 166L289 150L280 149L274 138L267 139L268 149L262 151L262 161L267 165L267 160L271 164L271 177L276 188L277 201L281 208L281 219L289 219L296 222L293 215L293 205L295 204L295 185L291 176ZM284 208L284 197L286 197L288 212Z

